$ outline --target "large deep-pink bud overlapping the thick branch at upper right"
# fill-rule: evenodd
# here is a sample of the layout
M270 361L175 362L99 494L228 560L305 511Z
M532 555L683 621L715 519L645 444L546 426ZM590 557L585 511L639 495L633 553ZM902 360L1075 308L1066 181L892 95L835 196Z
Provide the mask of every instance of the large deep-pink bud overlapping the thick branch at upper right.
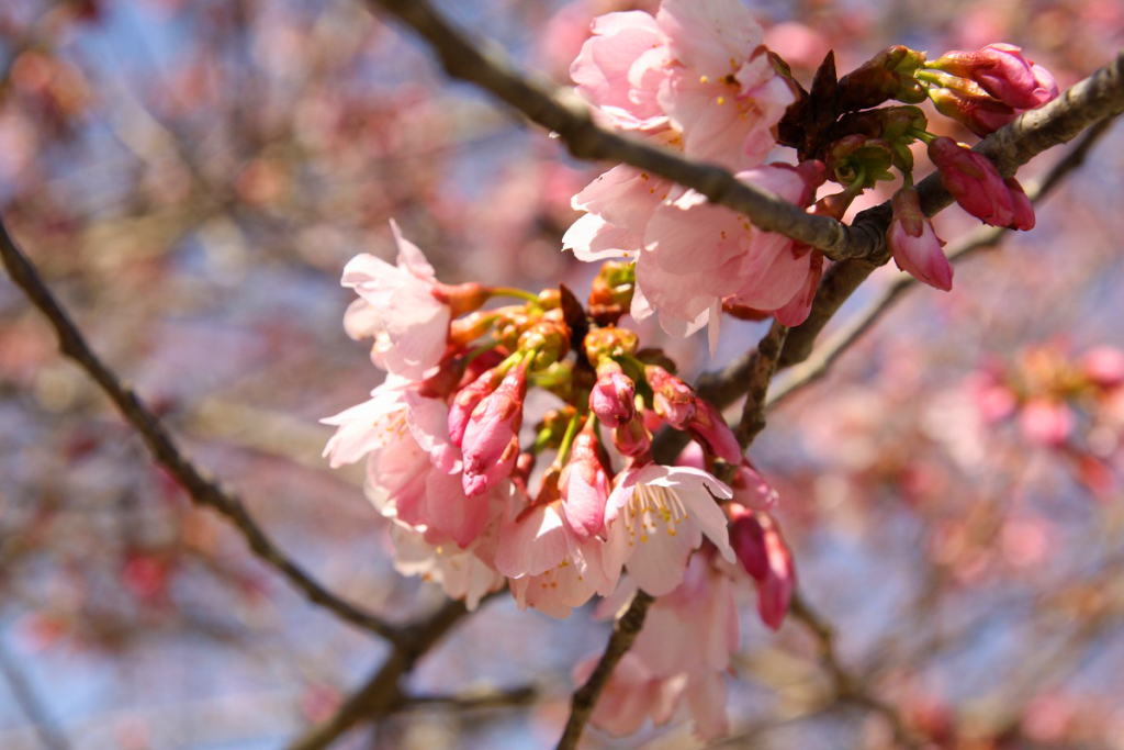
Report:
M928 157L940 170L941 184L961 208L991 226L1014 224L1010 188L990 159L945 136L928 144Z

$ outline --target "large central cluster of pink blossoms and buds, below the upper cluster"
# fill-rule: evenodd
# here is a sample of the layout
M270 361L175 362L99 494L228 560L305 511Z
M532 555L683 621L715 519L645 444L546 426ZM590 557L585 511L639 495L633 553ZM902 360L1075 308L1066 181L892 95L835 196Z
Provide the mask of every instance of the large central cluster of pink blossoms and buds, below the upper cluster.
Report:
M397 265L363 254L343 275L359 295L345 329L373 338L372 361L388 374L369 401L325 419L337 426L325 454L333 467L365 458L368 496L393 522L396 569L469 607L506 585L520 607L556 617L595 595L670 595L645 639L700 627L729 638L707 645L703 661L695 639L660 641L651 660L641 649L613 692L622 701L660 692L668 713L656 721L686 696L699 731L719 733L723 703L698 714L695 688L723 689L737 640L732 587L756 581L762 620L779 627L795 570L768 514L776 493L719 412L662 352L616 325L632 266L606 265L587 313L565 288L443 284L392 228ZM517 304L484 307L497 297ZM524 435L532 388L558 406ZM664 425L694 440L674 466L652 455Z

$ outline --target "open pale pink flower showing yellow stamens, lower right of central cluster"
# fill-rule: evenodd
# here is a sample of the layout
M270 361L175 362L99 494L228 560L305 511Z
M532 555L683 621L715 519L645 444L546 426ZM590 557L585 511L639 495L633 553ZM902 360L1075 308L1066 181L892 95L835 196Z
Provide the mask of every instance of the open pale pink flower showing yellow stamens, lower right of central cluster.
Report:
M682 580L687 558L705 535L734 560L726 516L716 501L733 493L699 469L649 463L617 476L605 513L609 577L627 564L641 588L662 596Z

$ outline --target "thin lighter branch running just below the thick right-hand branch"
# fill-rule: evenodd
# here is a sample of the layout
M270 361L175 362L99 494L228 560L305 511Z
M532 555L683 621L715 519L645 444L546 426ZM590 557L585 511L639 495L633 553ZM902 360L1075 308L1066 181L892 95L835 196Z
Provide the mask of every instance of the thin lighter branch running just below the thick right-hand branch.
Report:
M1066 175L1085 164L1093 146L1108 132L1114 121L1115 118L1109 117L1086 130L1077 145L1060 159L1036 186L1027 188L1031 201L1039 204L1061 183ZM981 250L995 247L1008 233L1008 229L1001 227L981 226L949 249L949 260L957 263ZM835 361L867 331L873 327L905 292L918 286L916 279L905 273L888 283L861 313L849 319L843 328L840 328L821 346L816 346L808 359L789 372L785 382L770 395L765 407L772 408L827 374Z

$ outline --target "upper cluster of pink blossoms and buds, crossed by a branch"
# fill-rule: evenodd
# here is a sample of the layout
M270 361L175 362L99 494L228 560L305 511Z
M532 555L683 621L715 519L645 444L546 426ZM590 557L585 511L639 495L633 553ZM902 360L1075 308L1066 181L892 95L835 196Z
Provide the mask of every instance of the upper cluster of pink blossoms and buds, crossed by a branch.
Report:
M842 218L854 198L892 180L897 169L904 187L892 201L890 250L900 269L939 289L952 287L952 268L913 187L913 143L927 144L943 184L969 214L994 226L1034 225L1017 181L928 133L913 106L932 99L982 136L1046 103L1058 87L1018 47L992 44L926 62L924 53L894 46L842 79L828 55L806 91L762 39L740 0L663 0L654 17L597 18L571 75L607 124L720 164L816 214ZM906 106L878 109L890 100ZM799 163L767 163L778 145L796 148ZM843 189L816 201L826 180ZM658 311L674 335L709 323L713 346L723 311L772 315L786 325L808 315L823 255L694 190L620 165L578 193L573 207L586 215L564 246L587 261L635 262L637 319Z

